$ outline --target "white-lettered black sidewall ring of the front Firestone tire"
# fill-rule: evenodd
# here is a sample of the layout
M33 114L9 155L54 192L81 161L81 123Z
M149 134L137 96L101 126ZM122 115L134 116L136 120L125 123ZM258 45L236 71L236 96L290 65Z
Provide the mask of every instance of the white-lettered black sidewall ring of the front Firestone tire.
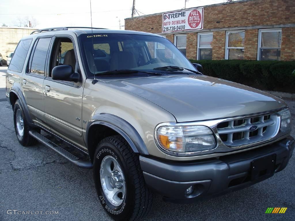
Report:
M107 199L106 196L102 190L101 187L101 181L100 181L100 165L101 161L104 159L105 156L112 156L114 157L124 174L125 179L125 185L126 185L126 193L125 193L125 199L123 203L115 207L113 206ZM134 184L132 183L132 177L129 177L130 174L128 173L128 167L125 162L124 157L118 149L109 142L103 142L99 144L98 148L95 151L94 155L94 182L96 187L96 192L99 197L99 201L101 202L101 205L103 206L106 213L111 216L115 220L125 220L125 217L128 217L130 215L130 211L132 211L132 208L134 207Z

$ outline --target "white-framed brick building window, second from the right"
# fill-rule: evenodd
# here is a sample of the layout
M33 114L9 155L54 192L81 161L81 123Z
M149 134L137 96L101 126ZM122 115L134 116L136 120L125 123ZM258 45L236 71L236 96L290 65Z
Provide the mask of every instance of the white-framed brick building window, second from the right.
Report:
M244 31L231 31L226 33L225 59L244 59Z

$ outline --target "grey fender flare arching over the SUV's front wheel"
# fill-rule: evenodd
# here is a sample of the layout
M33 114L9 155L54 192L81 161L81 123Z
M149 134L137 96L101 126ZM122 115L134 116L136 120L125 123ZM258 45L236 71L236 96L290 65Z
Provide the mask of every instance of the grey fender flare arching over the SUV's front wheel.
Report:
M86 146L89 147L89 131L94 125L107 126L119 133L135 153L148 155L144 141L136 129L124 119L109 113L99 113L91 117L86 127Z

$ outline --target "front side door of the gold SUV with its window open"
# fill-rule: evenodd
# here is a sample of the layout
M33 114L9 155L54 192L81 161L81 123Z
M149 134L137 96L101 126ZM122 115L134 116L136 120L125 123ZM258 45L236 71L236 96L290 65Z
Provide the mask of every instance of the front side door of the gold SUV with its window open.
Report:
M43 83L44 110L53 133L84 149L81 120L83 85L51 78L51 71L57 65L71 65L75 70L76 57L72 38L55 37L48 75Z

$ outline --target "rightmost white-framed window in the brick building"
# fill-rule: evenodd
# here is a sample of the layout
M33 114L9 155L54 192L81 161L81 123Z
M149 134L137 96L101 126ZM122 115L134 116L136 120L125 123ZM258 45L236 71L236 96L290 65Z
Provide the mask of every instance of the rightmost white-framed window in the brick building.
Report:
M260 30L258 39L258 60L280 60L281 41L281 29Z

